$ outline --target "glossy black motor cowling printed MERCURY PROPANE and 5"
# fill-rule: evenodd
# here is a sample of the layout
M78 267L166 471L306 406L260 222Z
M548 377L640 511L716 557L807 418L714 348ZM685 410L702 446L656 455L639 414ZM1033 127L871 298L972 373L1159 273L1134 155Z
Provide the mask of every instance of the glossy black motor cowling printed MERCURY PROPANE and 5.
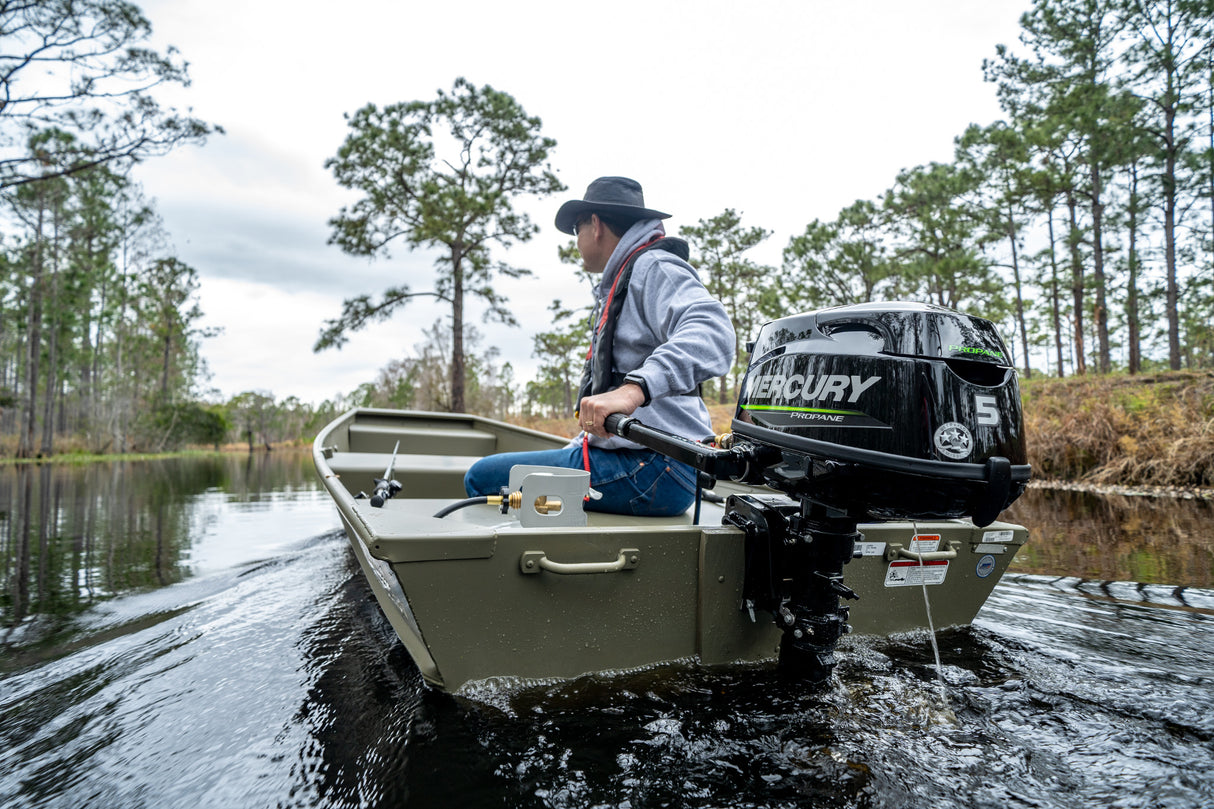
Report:
M765 324L750 356L733 434L781 451L770 486L874 517L977 525L1025 488L1016 372L989 321L840 306Z

